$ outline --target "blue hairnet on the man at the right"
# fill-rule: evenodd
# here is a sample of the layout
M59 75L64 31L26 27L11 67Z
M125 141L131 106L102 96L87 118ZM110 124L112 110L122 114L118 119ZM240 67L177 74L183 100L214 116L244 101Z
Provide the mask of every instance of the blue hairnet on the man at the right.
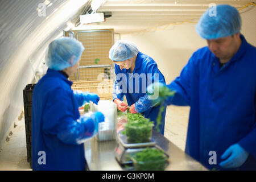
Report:
M210 7L196 24L196 32L203 39L218 39L234 35L241 30L241 16L236 8L230 5Z

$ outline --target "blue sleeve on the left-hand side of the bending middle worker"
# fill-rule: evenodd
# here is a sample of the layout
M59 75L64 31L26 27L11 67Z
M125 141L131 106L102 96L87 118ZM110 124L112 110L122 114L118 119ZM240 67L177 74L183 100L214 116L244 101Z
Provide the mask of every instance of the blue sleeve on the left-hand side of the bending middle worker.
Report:
M123 101L123 96L125 96L125 91L127 90L127 84L125 83L125 75L118 68L119 66L115 64L115 82L113 89L113 101L115 98L119 98L119 100Z

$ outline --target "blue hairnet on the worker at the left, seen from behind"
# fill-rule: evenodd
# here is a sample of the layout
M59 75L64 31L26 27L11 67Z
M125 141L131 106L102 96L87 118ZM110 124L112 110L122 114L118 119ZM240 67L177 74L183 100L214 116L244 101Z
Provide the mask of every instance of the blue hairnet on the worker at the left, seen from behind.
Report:
M73 38L60 38L53 40L48 47L46 53L46 64L49 68L56 71L75 65L79 60L84 46L82 43ZM75 56L73 64L68 63L69 59Z

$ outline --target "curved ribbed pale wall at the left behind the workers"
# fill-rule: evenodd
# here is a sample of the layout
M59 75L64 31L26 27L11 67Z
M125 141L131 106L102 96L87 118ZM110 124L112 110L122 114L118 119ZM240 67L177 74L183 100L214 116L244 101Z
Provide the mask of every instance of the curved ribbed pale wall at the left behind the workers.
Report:
M34 78L32 68L39 68L49 42L61 36L85 3L85 0L0 1L0 148L23 110L22 90ZM40 5L46 5L42 9L46 14L40 14Z

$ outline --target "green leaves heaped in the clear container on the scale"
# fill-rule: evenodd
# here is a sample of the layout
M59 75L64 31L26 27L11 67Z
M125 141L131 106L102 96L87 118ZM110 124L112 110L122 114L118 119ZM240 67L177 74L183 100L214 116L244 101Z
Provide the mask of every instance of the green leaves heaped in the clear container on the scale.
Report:
M127 114L128 123L125 124L125 130L122 134L127 137L127 143L145 143L150 142L152 127L154 123L150 119L144 118L142 114Z

